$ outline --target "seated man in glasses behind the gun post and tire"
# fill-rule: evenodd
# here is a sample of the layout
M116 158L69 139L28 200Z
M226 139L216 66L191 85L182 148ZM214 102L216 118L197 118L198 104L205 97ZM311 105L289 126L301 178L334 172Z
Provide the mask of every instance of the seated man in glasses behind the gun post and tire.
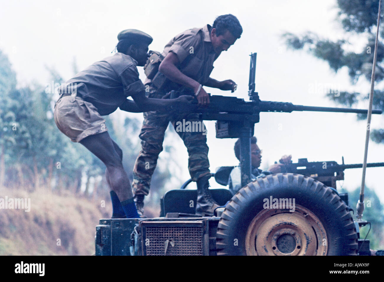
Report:
M258 177L263 177L268 174L273 173L281 173L281 167L284 166L284 164L291 163L292 156L283 156L280 159L279 164L273 164L268 168L268 171L262 171L261 169L258 169L262 162L262 150L259 149L257 146L257 139L255 136L251 137L251 165L252 165L252 175L251 179L252 181L255 180ZM235 143L235 156L240 161L240 139L237 139ZM232 194L236 194L237 191L239 191L242 188L241 185L241 173L240 173L240 166L236 166L232 169L229 179L228 179L228 185L229 190L232 192Z

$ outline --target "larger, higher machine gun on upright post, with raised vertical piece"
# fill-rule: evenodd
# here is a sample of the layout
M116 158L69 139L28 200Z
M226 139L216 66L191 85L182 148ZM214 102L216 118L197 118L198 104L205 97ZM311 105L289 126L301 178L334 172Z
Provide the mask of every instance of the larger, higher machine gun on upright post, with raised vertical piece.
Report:
M217 138L240 138L240 170L242 186L251 182L251 141L255 123L260 121L260 112L284 112L292 111L321 111L338 113L367 113L366 109L330 108L316 106L294 105L288 102L262 101L255 92L256 55L252 53L250 62L250 74L248 84L248 96L251 101L244 99L210 95L210 103L207 106L192 104L191 112L199 113L202 120L215 120ZM183 93L188 94L188 93ZM170 98L182 95L181 92L171 91ZM193 95L193 93L192 93ZM381 114L381 110L372 110L372 114Z

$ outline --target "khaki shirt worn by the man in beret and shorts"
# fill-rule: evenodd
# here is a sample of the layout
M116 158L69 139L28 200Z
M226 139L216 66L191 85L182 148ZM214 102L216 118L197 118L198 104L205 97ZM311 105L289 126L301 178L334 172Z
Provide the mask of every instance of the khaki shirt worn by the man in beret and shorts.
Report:
M128 96L144 92L144 85L137 61L118 52L80 71L59 89L59 93L73 91L104 116L116 111Z

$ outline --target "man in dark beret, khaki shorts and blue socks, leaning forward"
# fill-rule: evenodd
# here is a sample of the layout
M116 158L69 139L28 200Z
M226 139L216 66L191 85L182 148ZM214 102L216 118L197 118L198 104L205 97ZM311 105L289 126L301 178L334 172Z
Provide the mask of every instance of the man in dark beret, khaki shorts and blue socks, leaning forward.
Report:
M122 166L122 150L111 139L104 115L117 108L130 112L185 108L193 98L161 100L145 96L136 66L149 57L152 37L139 30L123 30L118 35L117 53L79 72L60 87L54 118L57 127L71 141L79 142L106 165L111 188L112 218L137 218L128 176ZM127 100L131 96L134 101Z

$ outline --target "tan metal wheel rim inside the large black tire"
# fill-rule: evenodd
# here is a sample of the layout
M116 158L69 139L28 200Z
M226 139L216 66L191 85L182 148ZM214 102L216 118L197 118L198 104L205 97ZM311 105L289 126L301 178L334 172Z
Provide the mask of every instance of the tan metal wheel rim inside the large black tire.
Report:
M307 208L295 211L263 209L252 220L245 237L247 255L326 255L327 234Z

